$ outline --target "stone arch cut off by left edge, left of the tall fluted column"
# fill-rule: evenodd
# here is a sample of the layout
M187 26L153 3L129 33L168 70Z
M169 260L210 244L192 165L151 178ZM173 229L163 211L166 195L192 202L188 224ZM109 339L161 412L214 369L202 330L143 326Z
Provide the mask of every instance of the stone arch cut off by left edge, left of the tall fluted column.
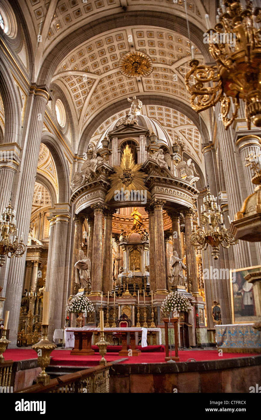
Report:
M2 56L3 58L3 56ZM4 60L0 60L0 93L5 109L5 134L3 143L19 143L21 131L21 101L17 87Z

